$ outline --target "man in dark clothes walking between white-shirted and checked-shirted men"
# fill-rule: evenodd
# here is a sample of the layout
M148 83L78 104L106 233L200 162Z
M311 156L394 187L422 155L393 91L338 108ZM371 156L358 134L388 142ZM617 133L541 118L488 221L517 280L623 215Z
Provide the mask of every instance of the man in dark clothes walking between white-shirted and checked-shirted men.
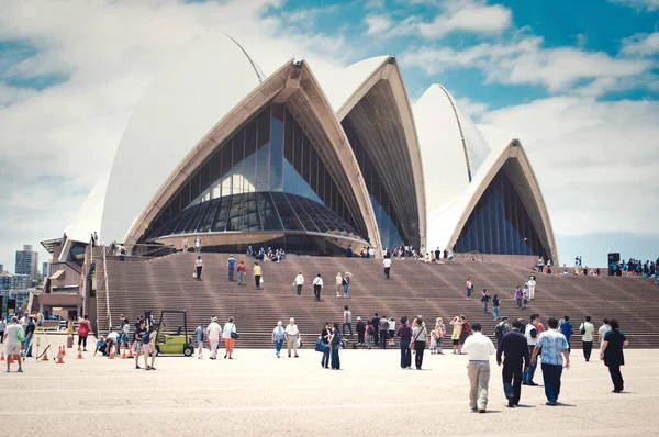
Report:
M513 322L513 328L506 333L496 347L496 365L501 366L503 355L503 392L509 401L507 406L514 407L520 404L522 394L522 370L530 365L530 354L526 337L521 333L524 325L522 322Z

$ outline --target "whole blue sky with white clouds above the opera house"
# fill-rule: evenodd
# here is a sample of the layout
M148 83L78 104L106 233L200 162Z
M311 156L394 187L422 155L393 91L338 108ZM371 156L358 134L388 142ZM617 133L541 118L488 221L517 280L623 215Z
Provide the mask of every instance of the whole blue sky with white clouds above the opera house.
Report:
M62 237L146 86L208 29L266 74L293 56L319 76L396 56L412 102L440 83L490 145L522 141L561 264L659 255L659 0L3 0L5 269Z

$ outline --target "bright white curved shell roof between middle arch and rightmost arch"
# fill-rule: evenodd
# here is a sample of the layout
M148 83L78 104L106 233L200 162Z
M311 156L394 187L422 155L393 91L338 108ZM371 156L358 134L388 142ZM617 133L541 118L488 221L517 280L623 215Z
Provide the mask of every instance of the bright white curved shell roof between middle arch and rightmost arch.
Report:
M414 120L423 156L427 211L432 215L467 189L490 146L469 115L439 85L432 85L414 103Z

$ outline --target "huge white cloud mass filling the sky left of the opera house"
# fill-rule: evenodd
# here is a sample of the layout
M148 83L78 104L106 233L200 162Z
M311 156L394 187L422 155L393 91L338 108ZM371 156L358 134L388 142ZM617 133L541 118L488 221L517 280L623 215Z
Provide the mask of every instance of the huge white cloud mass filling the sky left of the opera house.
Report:
M29 42L38 53L4 64L0 75L68 80L42 91L0 85L0 264L11 268L23 244L62 236L110 165L132 105L194 35L214 29L236 36L267 74L293 54L319 59L314 70L332 74L357 49L266 14L281 3L4 0L0 41Z

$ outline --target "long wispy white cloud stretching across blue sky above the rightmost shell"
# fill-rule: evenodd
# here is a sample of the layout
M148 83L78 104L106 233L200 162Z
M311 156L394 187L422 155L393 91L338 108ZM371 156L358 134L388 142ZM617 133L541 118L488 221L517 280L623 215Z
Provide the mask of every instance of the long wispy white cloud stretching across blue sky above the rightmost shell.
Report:
M551 92L565 91L580 80L641 75L654 66L645 59L541 45L543 38L526 37L513 43L483 43L463 51L423 47L404 54L403 61L428 75L451 68L480 68L489 82L541 85Z

